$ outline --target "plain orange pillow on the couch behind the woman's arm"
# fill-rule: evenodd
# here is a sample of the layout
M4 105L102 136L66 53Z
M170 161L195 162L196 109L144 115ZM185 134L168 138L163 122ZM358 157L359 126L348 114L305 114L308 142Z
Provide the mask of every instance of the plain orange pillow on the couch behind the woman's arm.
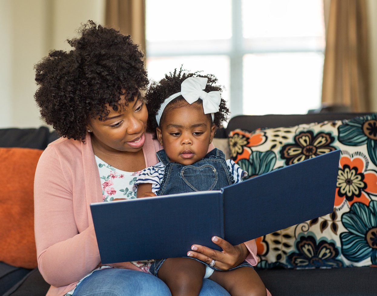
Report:
M37 267L34 175L43 150L0 148L0 261Z

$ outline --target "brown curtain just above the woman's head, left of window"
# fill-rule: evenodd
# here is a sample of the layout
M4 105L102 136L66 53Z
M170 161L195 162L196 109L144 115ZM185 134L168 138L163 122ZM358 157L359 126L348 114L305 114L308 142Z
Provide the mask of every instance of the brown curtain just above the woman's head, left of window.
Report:
M145 53L145 0L106 0L106 25L131 35Z

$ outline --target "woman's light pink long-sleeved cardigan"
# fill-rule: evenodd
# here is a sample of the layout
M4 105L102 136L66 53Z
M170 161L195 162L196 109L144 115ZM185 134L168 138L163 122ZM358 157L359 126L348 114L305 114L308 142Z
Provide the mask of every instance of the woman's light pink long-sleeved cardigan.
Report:
M146 134L146 166L156 164L158 141ZM210 147L213 149L213 146ZM60 138L42 153L35 172L35 242L38 267L51 284L47 296L62 296L100 264L90 204L102 201L102 189L90 136L86 144ZM246 260L257 264L255 241L245 243ZM74 268L72 268L74 266ZM130 262L124 268L140 270Z

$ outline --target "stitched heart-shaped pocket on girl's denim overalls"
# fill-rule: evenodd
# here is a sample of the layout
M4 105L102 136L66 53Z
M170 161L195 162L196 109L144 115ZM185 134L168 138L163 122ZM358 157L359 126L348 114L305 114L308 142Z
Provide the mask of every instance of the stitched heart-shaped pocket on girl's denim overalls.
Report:
M181 170L182 179L195 191L212 190L217 183L218 175L214 166L204 164L200 167L185 166Z

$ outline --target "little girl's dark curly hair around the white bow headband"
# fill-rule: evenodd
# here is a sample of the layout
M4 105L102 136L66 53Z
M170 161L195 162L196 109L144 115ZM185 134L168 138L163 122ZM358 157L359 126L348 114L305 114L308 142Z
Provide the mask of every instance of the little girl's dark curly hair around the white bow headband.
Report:
M222 87L217 84L217 78L214 75L199 75L199 72L195 73L188 73L185 70L181 69L177 73L177 69L174 72L170 72L170 74L165 74L165 78L161 79L158 83L153 82L148 87L147 92L145 94L145 101L146 106L148 109L148 124L147 124L147 132L153 134L153 138L156 139L156 127L158 127L156 121L156 114L161 107L161 104L165 101L166 98L169 98L171 95L176 94L177 92L181 91L181 83L189 77L205 77L208 78L207 86L205 86L205 92L211 91L219 91L222 92ZM167 112L172 108L179 108L183 106L185 103L185 99L180 95L172 100L164 109L160 119L160 125L165 120ZM195 103L200 104L203 107L203 101L199 99ZM194 103L194 104L195 104ZM212 122L212 117L210 114L207 114L208 118ZM215 119L213 120L213 124L216 127L221 127L224 121L228 120L229 109L227 108L226 102L224 99L221 99L221 103L219 106L219 112L215 113Z

